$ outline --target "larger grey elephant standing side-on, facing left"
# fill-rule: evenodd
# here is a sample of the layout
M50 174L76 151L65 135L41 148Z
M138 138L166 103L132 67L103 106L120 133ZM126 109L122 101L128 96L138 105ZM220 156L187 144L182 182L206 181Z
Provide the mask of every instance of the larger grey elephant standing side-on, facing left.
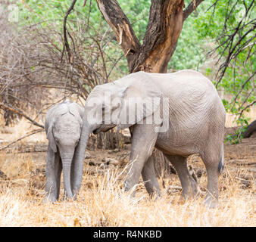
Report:
M108 91L108 98L103 98ZM93 98L101 98L101 104L91 105ZM128 98L158 97L160 102L148 110L137 112L136 120L122 124L120 120L127 116ZM106 100L119 100L119 104L109 107ZM165 101L164 98L169 98ZM140 120L154 117L158 110L164 110L162 119L169 123L166 132L156 132L159 125L139 124ZM167 112L169 111L169 113ZM92 113L102 111L104 116L111 113L111 120L97 123ZM139 114L138 114L139 113ZM167 114L168 113L168 114ZM91 132L106 132L130 128L132 149L124 184L126 190L139 182L139 176L145 182L149 194L160 194L151 157L154 147L161 150L173 164L183 187L183 196L188 198L198 194L198 184L189 174L186 157L200 154L208 173L208 195L206 204L215 206L218 200L218 175L223 169L223 135L226 112L217 90L212 82L193 70L176 73L132 73L115 82L96 86L86 100L83 114L83 130L76 148L74 188L80 188L83 173L83 159L86 143Z

